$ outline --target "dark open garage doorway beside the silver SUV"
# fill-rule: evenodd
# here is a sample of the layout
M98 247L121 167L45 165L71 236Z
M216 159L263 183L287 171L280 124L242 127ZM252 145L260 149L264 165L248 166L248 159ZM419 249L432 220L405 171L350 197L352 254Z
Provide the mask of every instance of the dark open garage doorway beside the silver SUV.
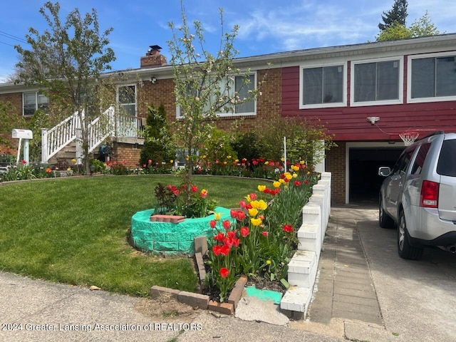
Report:
M393 167L404 147L351 147L349 149L349 202L378 203L378 192L385 179L378 167Z

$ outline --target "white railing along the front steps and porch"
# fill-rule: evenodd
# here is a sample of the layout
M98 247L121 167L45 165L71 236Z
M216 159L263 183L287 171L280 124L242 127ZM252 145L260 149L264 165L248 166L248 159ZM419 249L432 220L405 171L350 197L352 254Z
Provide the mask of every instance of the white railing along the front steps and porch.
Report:
M82 115L84 117L84 115ZM115 115L115 108L110 106L98 118L88 124L88 152L93 152L106 138L141 138L142 119ZM50 130L41 130L41 162L48 162L54 155L76 140L78 163L83 157L81 144L81 120L78 112L66 118Z

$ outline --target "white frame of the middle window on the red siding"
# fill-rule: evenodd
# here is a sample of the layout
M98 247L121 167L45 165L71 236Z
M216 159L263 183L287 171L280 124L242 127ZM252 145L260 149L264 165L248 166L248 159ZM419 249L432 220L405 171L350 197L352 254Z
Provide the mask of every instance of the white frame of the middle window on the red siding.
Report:
M365 63L378 63L385 61L399 61L399 74L398 74L398 98L393 100L378 100L378 101L363 101L355 102L355 66L356 64ZM403 103L403 89L404 88L404 57L403 56L389 56L383 58L363 59L358 61L351 61L350 71L350 105L351 107L363 107L368 105L400 105Z

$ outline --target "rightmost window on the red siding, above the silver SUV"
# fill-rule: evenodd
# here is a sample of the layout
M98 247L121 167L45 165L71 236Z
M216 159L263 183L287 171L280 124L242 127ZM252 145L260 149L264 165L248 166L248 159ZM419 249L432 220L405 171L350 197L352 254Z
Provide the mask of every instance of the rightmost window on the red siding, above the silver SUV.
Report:
M410 64L410 100L454 100L456 56L412 57Z

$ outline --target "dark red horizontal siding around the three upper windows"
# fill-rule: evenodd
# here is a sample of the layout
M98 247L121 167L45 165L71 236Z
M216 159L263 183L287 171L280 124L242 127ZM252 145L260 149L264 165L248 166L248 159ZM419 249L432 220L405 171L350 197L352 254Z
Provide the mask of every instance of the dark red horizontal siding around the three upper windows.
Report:
M407 61L407 58L404 58ZM282 116L302 116L308 120L321 120L333 140L399 140L405 130L418 130L422 135L434 130L456 132L456 101L434 103L406 103L407 77L404 65L404 103L401 105L372 105L350 107L350 68L348 63L347 107L299 109L299 66L284 68L282 72ZM378 116L376 125L366 118Z

